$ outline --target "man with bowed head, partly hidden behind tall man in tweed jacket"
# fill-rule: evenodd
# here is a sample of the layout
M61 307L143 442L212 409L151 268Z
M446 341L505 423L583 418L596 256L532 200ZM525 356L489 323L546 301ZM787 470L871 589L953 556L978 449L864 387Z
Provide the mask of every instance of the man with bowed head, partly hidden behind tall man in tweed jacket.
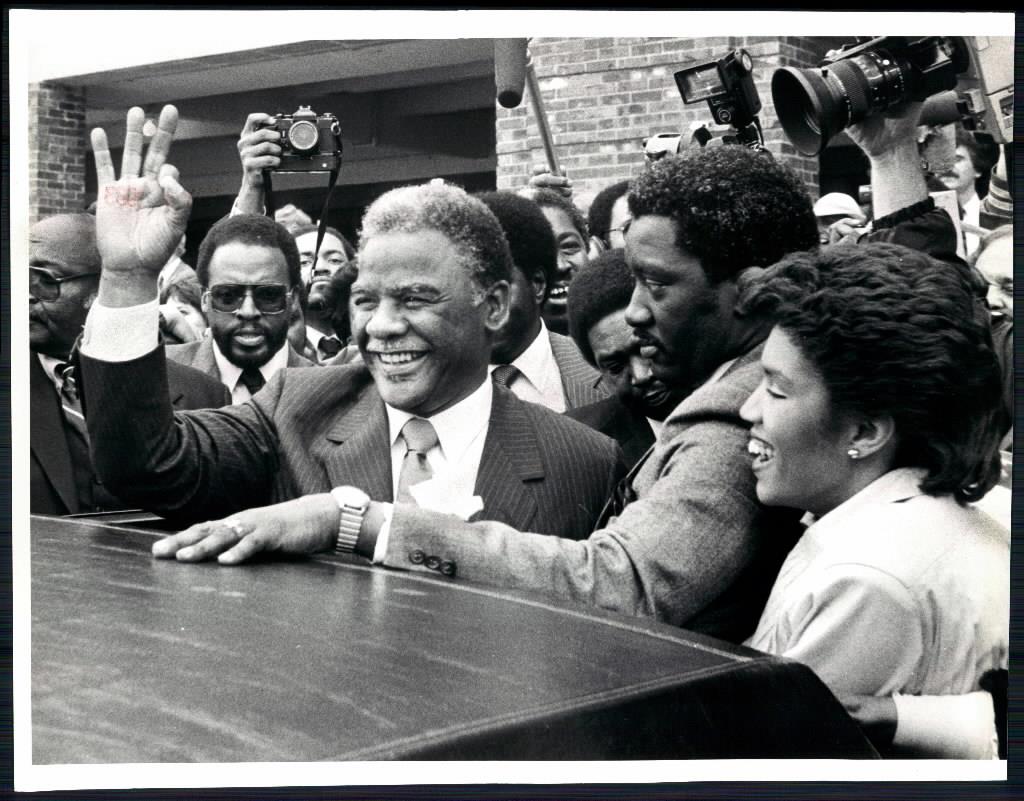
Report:
M624 196L625 197L625 196ZM656 379L639 353L626 308L633 296L633 273L621 248L591 259L569 289L569 332L584 359L614 391L569 417L615 439L629 466L654 444L669 413L683 399Z

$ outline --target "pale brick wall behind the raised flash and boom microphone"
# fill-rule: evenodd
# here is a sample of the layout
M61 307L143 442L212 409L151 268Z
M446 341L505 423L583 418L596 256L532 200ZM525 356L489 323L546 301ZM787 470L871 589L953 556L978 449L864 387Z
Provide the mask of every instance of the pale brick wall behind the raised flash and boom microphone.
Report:
M820 59L811 39L532 39L529 44L559 163L581 200L643 166L642 140L653 133L689 135L691 123L712 122L707 103L686 106L673 73L691 61L722 57L737 47L754 58L768 149L796 169L817 195L816 158L785 140L771 104L770 83L779 66L808 67ZM517 188L532 167L546 163L532 109L497 112L498 187Z

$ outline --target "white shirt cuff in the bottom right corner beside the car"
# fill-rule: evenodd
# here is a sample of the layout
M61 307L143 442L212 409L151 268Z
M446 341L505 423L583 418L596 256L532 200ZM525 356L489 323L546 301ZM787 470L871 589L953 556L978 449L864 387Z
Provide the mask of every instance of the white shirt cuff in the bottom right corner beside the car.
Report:
M992 697L893 695L893 746L940 759L997 759L998 734Z

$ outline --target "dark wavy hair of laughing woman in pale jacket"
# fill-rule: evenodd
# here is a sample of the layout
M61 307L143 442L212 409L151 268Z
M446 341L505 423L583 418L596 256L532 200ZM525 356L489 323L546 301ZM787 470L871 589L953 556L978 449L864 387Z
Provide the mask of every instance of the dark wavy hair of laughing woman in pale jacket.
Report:
M962 265L900 245L837 245L744 275L737 304L774 321L837 411L895 422L894 467L976 501L999 477L999 365Z

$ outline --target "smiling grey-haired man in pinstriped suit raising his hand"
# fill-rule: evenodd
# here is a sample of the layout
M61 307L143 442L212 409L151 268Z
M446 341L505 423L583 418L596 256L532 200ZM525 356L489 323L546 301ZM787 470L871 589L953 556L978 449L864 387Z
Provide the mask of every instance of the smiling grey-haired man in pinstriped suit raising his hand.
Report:
M137 117L132 110L129 130ZM384 502L381 512L396 499L560 537L589 534L621 475L621 453L487 380L511 257L494 215L454 186L394 189L368 210L350 296L365 364L282 370L251 403L176 416L155 394L117 388L146 386L163 372L154 270L190 205L176 171L161 168L175 117L165 109L167 135L154 138L143 176L129 171L116 182L105 136L94 132L103 273L82 363L86 398L103 411L89 423L105 445L95 457L104 479L176 519L327 499L350 548L352 520L371 498ZM136 197L158 203L133 205ZM132 246L133 225L144 227L147 247ZM117 347L102 336L109 327L124 332ZM321 522L302 509L322 507L300 504L295 532Z

